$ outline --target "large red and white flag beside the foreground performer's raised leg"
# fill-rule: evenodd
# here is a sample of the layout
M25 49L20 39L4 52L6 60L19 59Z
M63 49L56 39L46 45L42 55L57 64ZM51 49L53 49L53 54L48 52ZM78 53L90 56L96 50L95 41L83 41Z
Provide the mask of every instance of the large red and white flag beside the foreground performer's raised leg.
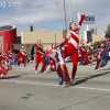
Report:
M53 61L57 75L62 77L67 84L70 84L68 70L61 48L54 47L47 53L47 56L51 58L51 61Z

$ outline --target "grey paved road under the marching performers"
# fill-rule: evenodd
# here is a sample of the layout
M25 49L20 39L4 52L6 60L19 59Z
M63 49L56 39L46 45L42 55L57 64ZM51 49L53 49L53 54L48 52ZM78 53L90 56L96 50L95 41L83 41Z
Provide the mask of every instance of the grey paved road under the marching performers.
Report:
M56 73L35 75L34 64L15 66L0 80L0 110L110 110L110 63L94 68L78 66L76 85L66 87Z

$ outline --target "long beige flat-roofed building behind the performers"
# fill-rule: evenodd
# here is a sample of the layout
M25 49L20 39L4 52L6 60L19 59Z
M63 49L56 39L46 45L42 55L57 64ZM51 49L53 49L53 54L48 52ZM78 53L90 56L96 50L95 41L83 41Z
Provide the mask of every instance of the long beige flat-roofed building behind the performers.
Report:
M92 42L102 40L102 35L92 35ZM21 46L25 46L26 44L31 44L26 50L26 54L31 55L31 50L33 45L36 45L37 40L41 40L42 44L44 45L44 50L51 50L56 44L59 44L64 41L62 32L30 32L23 31L21 32L21 37L19 36L18 40L20 41L18 44L14 44L14 50L20 50ZM85 40L84 35L79 35L79 40Z

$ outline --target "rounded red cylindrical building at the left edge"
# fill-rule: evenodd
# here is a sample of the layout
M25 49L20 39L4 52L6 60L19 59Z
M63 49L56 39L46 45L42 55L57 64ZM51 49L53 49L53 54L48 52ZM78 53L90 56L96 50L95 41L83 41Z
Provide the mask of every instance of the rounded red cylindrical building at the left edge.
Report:
M13 25L0 26L0 48L7 52L8 47L13 50L13 44L18 43L16 28Z

